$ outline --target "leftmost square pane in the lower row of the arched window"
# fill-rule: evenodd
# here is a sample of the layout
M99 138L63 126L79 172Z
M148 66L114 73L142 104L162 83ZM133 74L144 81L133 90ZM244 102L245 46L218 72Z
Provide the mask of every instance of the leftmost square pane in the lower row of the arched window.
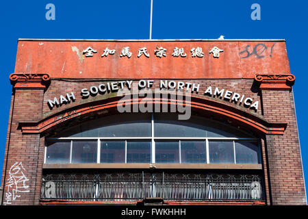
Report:
M47 145L46 164L67 164L70 162L70 141L49 142Z

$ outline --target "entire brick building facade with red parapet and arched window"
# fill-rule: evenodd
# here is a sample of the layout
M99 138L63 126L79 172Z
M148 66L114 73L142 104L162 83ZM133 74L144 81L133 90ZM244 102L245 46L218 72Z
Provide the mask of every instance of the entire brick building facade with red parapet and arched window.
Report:
M307 204L284 40L18 40L10 81L3 205Z

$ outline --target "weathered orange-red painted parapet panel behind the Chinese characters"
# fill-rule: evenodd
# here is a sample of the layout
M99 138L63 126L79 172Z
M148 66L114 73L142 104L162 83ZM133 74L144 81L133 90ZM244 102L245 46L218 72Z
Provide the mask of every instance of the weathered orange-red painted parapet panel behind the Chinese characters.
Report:
M43 42L43 44L42 44ZM92 47L92 57L82 53ZM116 49L114 55L101 57L104 49ZM123 47L130 47L130 58L120 57ZM150 57L138 55L146 47ZM167 49L166 57L157 57L157 47ZM173 57L175 47L186 57ZM201 47L204 57L192 57L190 49ZM224 51L213 57L209 51ZM47 73L51 78L251 78L256 74L290 74L284 41L18 41L14 73Z

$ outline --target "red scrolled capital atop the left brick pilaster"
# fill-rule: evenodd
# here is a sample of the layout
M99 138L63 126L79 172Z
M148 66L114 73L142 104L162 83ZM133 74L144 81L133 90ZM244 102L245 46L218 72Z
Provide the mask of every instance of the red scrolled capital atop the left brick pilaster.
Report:
M50 77L48 74L12 73L10 81L15 89L46 89Z

